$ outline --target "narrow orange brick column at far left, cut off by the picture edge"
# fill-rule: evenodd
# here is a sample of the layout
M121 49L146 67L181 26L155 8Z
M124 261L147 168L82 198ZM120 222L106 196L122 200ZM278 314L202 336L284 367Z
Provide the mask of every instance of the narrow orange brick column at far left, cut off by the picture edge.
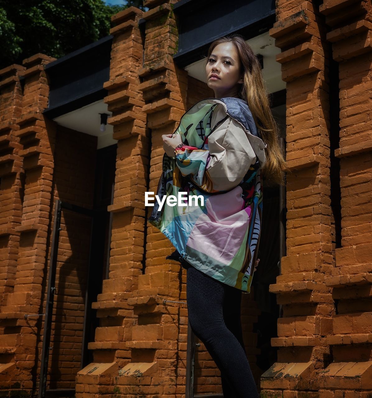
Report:
M20 234L16 227L22 217L24 174L22 148L16 135L18 119L22 112L22 87L20 76L24 66L11 65L0 70L0 302L6 305L14 288Z

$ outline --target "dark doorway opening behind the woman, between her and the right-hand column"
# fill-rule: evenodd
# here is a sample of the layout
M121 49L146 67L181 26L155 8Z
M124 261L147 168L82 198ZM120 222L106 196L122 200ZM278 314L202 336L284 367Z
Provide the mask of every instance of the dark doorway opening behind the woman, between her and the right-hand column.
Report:
M274 93L276 94L276 93ZM283 153L286 148L286 100L285 92L274 96L272 114L279 129L280 144ZM263 217L258 264L252 285L254 298L260 309L253 332L257 333L257 366L266 371L277 361L278 347L272 347L271 339L277 337L277 323L281 315L281 306L276 302L276 294L270 293L269 286L276 283L280 275L280 259L286 255L286 187L278 184L267 184L263 181Z

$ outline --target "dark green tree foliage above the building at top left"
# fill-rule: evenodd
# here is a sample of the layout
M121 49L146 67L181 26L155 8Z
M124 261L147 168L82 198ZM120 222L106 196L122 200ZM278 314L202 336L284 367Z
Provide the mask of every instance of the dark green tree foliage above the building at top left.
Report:
M0 0L0 69L37 53L61 58L110 34L111 16L142 0Z

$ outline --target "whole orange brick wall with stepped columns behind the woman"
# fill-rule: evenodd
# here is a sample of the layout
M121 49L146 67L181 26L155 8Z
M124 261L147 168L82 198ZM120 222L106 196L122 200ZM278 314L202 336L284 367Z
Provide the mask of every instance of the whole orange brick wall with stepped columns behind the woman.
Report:
M213 93L174 65L178 33L172 3L145 0L112 17L110 78L104 99L117 140L109 278L93 302L93 362L78 370L89 221L63 212L50 388L76 398L183 397L186 388L186 271L167 261L170 242L146 223L143 196L156 191L161 135L193 103ZM367 398L370 372L370 74L367 1L276 2L270 36L286 82L286 256L270 291L282 304L278 361L255 365L260 315L243 297L242 322L253 373L264 396ZM145 36L138 23L143 18ZM339 148L330 139L330 60L339 69ZM4 396L37 388L54 199L90 208L96 138L45 120L48 85L38 54L0 71L0 388ZM334 71L334 65L332 66ZM20 76L25 77L22 92ZM333 88L334 89L334 88ZM334 97L334 96L333 96ZM334 121L332 121L334 123ZM337 122L338 123L338 122ZM334 126L333 126L334 127ZM332 133L334 134L334 132ZM341 247L331 187L339 159ZM333 170L332 170L333 171ZM148 184L149 181L149 185ZM333 199L337 200L337 198ZM337 203L336 203L337 205ZM63 326L63 327L62 327ZM197 348L195 393L221 392L219 370Z

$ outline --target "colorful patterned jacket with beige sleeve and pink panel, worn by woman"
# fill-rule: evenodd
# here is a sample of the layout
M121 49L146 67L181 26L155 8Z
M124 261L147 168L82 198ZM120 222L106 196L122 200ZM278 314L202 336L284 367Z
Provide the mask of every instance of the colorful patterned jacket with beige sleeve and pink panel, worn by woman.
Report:
M249 293L262 220L260 169L266 144L244 100L206 98L182 115L174 134L182 144L164 153L157 195L186 192L184 204L157 202L148 221L172 242L167 259L186 261ZM202 195L195 204L188 195Z

